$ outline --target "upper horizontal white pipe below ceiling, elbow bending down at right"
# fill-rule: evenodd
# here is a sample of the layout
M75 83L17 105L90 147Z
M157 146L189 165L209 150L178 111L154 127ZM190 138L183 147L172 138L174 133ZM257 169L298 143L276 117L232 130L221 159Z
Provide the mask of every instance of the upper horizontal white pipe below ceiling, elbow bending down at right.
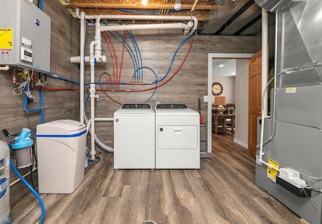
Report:
M80 19L79 9L76 8L76 17ZM193 21L193 29L190 31L190 35L197 30L198 19L195 16L153 16L153 15L92 15L85 16L87 20L95 20L100 17L102 20L171 20L171 21Z

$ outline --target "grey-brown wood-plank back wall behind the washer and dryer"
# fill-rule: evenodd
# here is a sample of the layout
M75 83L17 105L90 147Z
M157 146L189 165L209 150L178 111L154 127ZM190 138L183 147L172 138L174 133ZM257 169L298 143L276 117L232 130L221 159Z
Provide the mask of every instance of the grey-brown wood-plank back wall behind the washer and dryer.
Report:
M89 45L94 39L95 27L89 26L87 36L87 53L89 55ZM171 63L172 57L180 45L180 43L187 37L183 36L181 31L132 31L135 40L139 46L143 66L147 66L157 73L159 70L159 78L162 78ZM113 33L114 34L114 33ZM120 32L123 35L123 32ZM118 35L116 35L118 36ZM109 34L116 51L118 65L121 62L122 45L116 38ZM132 47L129 36L126 40ZM157 61L157 46L159 41L159 61ZM191 39L187 40L179 49L177 56L172 64L170 77L181 64L186 52L189 48ZM134 48L132 47L135 54ZM207 95L207 80L208 80L208 53L255 53L257 51L257 37L231 37L231 36L194 36L193 44L190 53L184 62L179 72L165 85L159 87L158 97L157 92L153 95L148 103L152 107L155 106L156 101L162 103L186 103L190 108L198 111L198 97L201 99L201 114L204 118L204 123L207 124L207 102L203 102L203 96ZM103 72L109 73L113 77L113 66L111 54L108 46L102 35L102 55L107 56L107 63L98 63L95 66L95 81L99 81L99 76ZM121 82L129 82L133 76L133 63L129 57L129 53L124 52L123 66L121 73ZM90 82L90 66L86 67L86 81ZM151 82L155 80L153 73L148 69L143 69L144 81ZM102 75L102 82L106 81L107 75ZM166 78L166 79L167 79ZM166 80L165 79L165 80ZM120 86L121 89L136 89L149 88L148 86ZM106 89L106 86L103 87ZM97 85L97 89L100 86ZM144 91L139 93L134 92L106 92L110 97L119 101L120 103L142 103L147 100L152 91ZM113 118L114 112L120 108L120 104L113 102L102 91L98 91L99 101L96 101L95 116L97 118ZM89 105L88 105L89 106ZM90 109L88 117L90 117ZM124 130L126 131L126 130ZM96 122L96 133L98 137L109 146L113 146L113 123L112 122ZM88 147L90 147L90 138L88 139ZM142 136L141 141L144 141ZM126 140L125 140L126 141ZM99 149L100 151L100 149Z

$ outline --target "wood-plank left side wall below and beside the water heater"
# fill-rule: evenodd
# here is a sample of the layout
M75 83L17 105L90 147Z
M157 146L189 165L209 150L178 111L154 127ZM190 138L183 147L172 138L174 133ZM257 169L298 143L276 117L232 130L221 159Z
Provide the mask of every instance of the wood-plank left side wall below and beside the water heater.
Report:
M36 3L35 3L36 4ZM79 55L79 23L67 12L58 0L45 0L43 11L51 19L50 40L50 74L57 74L73 81L79 81L79 65L69 62L70 56ZM43 52L48 54L49 52ZM17 78L17 82L21 82ZM55 78L47 78L47 87L78 88L72 84ZM12 82L12 70L0 71L0 125L1 130L7 129L10 134L19 133L23 128L36 129L40 124L40 111L24 112L24 93L14 95L13 89L17 87ZM40 107L39 90L34 90L35 99L28 108ZM59 119L72 119L79 121L78 91L49 91L43 90L44 122ZM1 132L1 140L5 135ZM30 168L19 170L21 174ZM10 182L17 179L16 174L10 173ZM15 195L11 195L11 204L20 199L29 190L21 182L13 185ZM13 189L14 190L14 189Z

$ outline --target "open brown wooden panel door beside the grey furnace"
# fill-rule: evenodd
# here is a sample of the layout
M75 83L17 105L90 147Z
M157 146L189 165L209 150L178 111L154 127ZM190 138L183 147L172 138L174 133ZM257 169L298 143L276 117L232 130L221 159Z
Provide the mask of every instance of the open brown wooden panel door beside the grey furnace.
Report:
M257 118L262 109L262 50L250 59L249 66L248 150L256 158Z

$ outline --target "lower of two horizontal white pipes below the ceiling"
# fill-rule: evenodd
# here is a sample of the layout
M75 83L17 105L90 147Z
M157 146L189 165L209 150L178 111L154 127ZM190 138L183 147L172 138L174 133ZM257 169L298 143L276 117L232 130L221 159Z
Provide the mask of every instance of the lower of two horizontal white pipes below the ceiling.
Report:
M101 29L102 31L184 29L185 33L190 31L190 27L183 23L102 26Z

